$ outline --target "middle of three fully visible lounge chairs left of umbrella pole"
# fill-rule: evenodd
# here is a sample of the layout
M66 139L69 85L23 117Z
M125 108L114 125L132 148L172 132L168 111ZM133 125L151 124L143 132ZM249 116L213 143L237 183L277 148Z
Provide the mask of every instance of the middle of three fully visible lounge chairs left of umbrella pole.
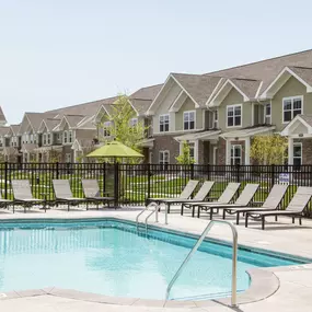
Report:
M84 198L73 197L70 184L68 180L53 180L53 186L55 192L56 204L67 204L67 210L69 211L70 206L85 203Z

